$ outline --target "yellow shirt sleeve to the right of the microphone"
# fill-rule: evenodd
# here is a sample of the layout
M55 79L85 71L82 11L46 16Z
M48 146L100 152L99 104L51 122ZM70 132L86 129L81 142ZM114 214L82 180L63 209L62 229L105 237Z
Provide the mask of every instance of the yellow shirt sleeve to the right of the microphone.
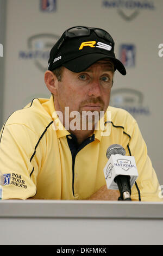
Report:
M161 201L159 181L152 162L147 153L147 146L142 138L140 129L135 122L129 141L130 154L135 157L139 176L133 186L131 198L137 200L137 190L141 201ZM137 187L136 187L137 186Z

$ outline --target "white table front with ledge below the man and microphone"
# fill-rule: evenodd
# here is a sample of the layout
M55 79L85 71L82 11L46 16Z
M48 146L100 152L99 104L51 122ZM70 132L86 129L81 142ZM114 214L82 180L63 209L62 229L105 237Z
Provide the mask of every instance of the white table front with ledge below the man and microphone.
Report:
M162 245L163 203L1 200L0 245Z

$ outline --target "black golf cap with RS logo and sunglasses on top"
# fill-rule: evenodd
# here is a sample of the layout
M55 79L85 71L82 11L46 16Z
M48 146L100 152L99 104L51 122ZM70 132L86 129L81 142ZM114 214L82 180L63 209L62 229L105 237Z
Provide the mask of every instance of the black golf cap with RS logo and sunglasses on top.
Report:
M114 40L101 28L72 27L67 29L52 47L48 70L65 66L73 72L82 72L93 63L109 58L114 69L126 75L126 69L114 53Z

